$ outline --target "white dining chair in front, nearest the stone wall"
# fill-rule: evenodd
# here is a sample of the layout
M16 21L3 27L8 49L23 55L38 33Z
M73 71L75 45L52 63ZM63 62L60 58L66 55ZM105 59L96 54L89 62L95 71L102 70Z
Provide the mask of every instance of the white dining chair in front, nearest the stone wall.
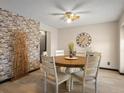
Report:
M56 86L56 93L58 93L58 87L65 81L70 82L70 75L62 72L57 72L54 57L42 56L42 68L44 72L44 92L47 91L47 82ZM70 84L69 84L70 85ZM69 87L70 91L70 87Z

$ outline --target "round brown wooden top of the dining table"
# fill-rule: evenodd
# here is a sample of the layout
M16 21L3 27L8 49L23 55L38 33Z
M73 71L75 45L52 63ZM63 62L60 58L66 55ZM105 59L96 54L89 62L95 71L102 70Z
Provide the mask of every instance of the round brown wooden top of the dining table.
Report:
M76 59L67 59L67 56L55 56L55 63L61 67L82 68L85 66L86 57L77 56Z

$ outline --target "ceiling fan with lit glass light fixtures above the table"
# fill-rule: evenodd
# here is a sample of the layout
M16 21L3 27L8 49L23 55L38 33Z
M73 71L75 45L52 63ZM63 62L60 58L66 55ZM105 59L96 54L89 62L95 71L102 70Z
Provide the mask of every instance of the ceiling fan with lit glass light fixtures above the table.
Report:
M80 8L83 3L79 3L77 5L75 5L71 11L67 11L66 9L64 9L64 7L62 7L59 3L56 3L56 8L58 8L59 10L62 10L62 13L51 13L51 15L53 16L59 16L62 15L62 17L60 19L65 20L67 23L71 23L73 21L76 21L78 19L80 19L79 14L84 14L84 13L90 13L90 11L80 11L80 12L73 12L74 10Z

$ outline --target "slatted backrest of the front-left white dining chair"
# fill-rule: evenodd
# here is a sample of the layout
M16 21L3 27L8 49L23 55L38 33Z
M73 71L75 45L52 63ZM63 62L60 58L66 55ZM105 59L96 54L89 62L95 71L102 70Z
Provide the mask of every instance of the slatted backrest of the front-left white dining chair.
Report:
M47 75L57 79L57 72L56 72L54 57L42 56L42 67Z

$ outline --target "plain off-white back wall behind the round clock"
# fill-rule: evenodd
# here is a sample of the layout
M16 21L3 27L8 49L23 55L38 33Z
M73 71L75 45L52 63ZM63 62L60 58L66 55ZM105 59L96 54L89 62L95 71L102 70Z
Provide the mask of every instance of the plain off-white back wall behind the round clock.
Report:
M65 28L58 31L58 49L68 48L68 43L75 42L81 32L87 32L92 37L92 50L102 53L101 67L118 69L118 25L117 22ZM75 42L76 43L76 42ZM83 50L76 45L76 50ZM107 62L111 62L108 66Z

